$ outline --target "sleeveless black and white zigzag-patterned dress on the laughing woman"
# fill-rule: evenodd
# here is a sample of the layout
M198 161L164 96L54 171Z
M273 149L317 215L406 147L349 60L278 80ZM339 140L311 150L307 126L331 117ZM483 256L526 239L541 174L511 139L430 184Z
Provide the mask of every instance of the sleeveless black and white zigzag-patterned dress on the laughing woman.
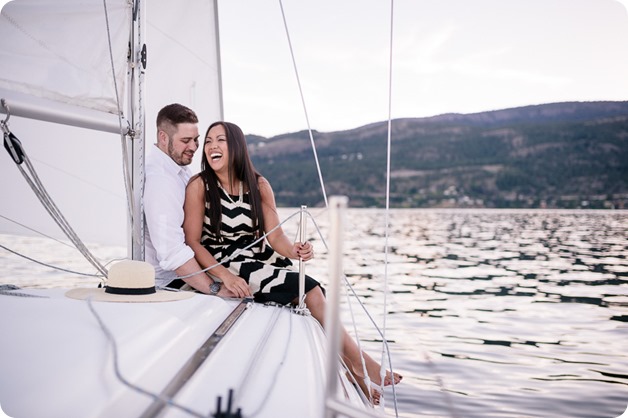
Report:
M243 202L240 202L239 196L229 199L222 188L219 190L222 203L220 239L209 230L209 203L206 203L201 243L220 262L255 241L255 234L249 194L244 193ZM223 265L246 280L256 302L286 305L299 296L299 273L290 268L290 259L275 252L268 244L262 249L260 242ZM305 292L316 286L319 283L306 275Z

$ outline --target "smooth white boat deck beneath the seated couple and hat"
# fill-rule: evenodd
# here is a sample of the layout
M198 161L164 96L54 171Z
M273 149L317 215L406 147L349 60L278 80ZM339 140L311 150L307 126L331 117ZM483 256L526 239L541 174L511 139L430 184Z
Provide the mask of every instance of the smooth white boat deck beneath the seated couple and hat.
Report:
M116 377L112 345L87 302L66 298L65 289L14 293L45 297L0 295L0 405L5 413L157 416L152 414L160 411L158 401ZM175 302L92 306L115 339L122 377L159 395L238 304L197 294ZM251 304L172 400L211 416L218 397L225 409L232 389L232 410L241 408L244 417L322 417L325 347L324 333L311 316ZM343 373L338 382L339 399L370 409ZM173 406L160 413L190 416Z

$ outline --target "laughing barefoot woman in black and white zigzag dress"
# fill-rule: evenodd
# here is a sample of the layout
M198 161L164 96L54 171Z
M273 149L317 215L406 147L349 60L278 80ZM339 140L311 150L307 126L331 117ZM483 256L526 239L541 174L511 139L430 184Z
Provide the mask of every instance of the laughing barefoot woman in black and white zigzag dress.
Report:
M262 240L212 268L210 274L236 297L298 303L299 274L289 269L290 259L310 260L314 249L309 242L291 242L278 227L273 190L253 167L246 139L237 125L215 122L207 130L201 172L187 186L184 211L186 243L203 268L216 265L249 246L264 232L269 233L266 238L270 245ZM320 284L309 276L305 277L305 294L310 313L324 325L325 296ZM379 403L380 392L367 389L360 376L357 368L361 364L360 350L345 330L343 354L362 390L372 396L373 403ZM370 380L381 386L379 364L368 354L363 356ZM401 380L400 375L387 373L384 384L391 384L393 377L395 383Z

